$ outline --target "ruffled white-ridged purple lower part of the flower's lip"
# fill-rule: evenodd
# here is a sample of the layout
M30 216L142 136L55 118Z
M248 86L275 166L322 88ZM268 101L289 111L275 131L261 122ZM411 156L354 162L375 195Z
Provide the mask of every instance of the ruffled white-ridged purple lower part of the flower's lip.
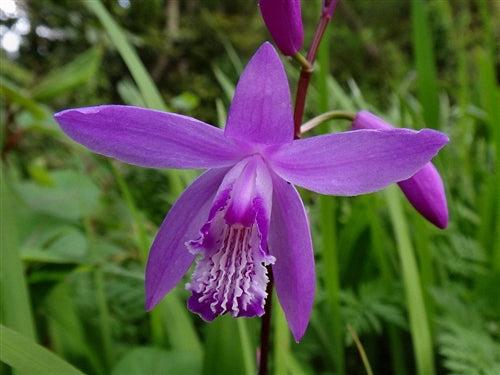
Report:
M274 257L262 251L257 225L227 225L218 212L210 227L204 238L188 244L193 253L202 254L192 283L186 285L193 292L189 308L208 321L227 312L261 316L268 282L265 265L274 263Z

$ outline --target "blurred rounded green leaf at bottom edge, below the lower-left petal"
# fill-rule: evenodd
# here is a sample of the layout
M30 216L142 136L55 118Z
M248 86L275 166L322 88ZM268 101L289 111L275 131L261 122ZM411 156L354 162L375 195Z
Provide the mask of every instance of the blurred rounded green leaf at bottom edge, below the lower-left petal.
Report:
M198 375L200 368L199 359L189 353L143 347L125 354L111 375Z

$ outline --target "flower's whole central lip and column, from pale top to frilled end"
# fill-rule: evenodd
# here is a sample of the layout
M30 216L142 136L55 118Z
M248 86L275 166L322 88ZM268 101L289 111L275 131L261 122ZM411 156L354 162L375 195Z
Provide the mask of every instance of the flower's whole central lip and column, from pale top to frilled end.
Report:
M207 321L230 313L233 317L264 314L266 265L275 259L265 249L271 189L257 184L268 179L260 159L250 158L226 176L199 239L186 243L196 260L186 288L191 311ZM267 186L267 185L266 185Z

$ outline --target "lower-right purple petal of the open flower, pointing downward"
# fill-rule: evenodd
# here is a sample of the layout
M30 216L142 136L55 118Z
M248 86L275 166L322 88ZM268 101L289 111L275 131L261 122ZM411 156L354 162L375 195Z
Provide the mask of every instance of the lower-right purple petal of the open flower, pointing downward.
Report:
M295 187L273 175L269 252L274 283L296 342L304 336L314 301L314 254L307 215Z

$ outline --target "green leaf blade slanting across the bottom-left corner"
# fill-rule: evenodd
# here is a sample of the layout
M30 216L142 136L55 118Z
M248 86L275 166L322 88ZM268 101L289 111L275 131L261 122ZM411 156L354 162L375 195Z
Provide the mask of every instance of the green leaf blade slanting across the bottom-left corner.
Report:
M0 360L20 373L83 374L50 350L4 325L0 325L0 347Z

